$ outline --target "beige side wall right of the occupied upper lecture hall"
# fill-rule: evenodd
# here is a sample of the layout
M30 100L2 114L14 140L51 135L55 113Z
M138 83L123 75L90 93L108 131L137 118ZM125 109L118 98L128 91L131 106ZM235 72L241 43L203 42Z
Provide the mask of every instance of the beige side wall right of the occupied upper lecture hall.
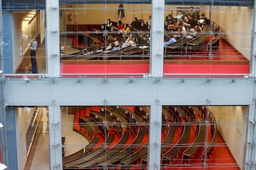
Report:
M252 7L215 6L214 9L211 18L223 29L223 38L250 60L254 21Z

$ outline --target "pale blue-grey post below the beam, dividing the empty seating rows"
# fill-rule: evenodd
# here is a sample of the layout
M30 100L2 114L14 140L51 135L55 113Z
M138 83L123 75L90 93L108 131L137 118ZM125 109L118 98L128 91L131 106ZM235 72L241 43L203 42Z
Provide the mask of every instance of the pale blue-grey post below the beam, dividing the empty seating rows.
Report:
M148 136L148 169L160 169L161 166L161 121L162 107L157 102L150 106L150 125Z

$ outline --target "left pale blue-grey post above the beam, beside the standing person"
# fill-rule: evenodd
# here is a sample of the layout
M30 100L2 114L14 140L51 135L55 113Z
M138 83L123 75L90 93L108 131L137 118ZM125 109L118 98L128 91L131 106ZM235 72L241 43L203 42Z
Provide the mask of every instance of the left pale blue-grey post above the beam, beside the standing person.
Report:
M50 77L60 74L59 57L59 1L46 0L46 56L47 73Z

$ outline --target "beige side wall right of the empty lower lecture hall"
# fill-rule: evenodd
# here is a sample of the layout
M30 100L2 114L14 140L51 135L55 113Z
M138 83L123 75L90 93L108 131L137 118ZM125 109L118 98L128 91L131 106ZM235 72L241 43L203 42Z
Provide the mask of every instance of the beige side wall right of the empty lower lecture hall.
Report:
M242 169L248 120L247 106L208 107L218 123L218 131Z

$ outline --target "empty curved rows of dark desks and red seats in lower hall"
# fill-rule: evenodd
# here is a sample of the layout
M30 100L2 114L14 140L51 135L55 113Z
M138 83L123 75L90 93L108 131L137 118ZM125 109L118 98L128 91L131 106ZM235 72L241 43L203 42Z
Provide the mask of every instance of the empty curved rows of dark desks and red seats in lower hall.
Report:
M183 163L199 148L202 151L202 161L209 158L210 152L217 135L216 123L213 122L211 129L211 141L205 147L205 129L207 124L205 119L199 118L200 112L204 108L194 107L163 107L163 135L161 144L161 155L163 164L171 163L182 155ZM173 114L176 111L178 114ZM86 112L86 113L85 113ZM91 108L87 111L75 113L75 120L79 117L78 124L74 123L74 130L79 132L77 126L86 131L92 131L93 134L104 127L108 127L108 131L101 131L104 141L98 143L99 139L92 136L89 145L82 148L78 152L63 158L64 169L95 169L114 166L129 167L130 164L139 163L141 167L145 167L148 161L148 110L145 107L105 107ZM79 116L77 116L79 115ZM175 123L174 117L180 116L180 122ZM197 117L198 123L195 121ZM93 119L98 119L95 124ZM177 119L176 119L177 120ZM104 122L102 123L102 122ZM96 127L95 127L96 126ZM90 129L90 130L89 130ZM118 131L117 131L118 129ZM197 129L195 132L192 129ZM195 133L194 142L186 145L188 140L192 138L191 133ZM81 133L81 132L80 132ZM87 133L88 135L88 133ZM115 137L117 136L117 137ZM175 136L179 136L174 142ZM113 142L116 138L117 142Z

